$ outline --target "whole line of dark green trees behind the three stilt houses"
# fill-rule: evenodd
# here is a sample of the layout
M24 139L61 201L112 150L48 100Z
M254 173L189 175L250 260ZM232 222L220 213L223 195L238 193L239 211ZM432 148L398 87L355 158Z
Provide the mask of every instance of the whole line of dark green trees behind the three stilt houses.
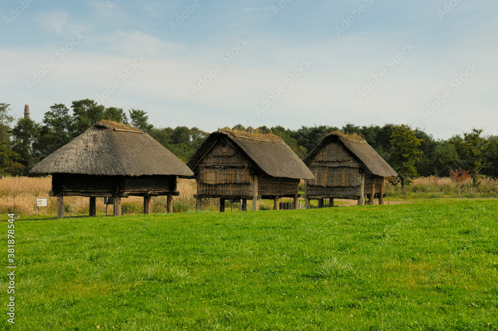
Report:
M128 124L149 134L184 162L209 135L197 127L157 128L148 122L143 110L131 108L126 112L122 108L106 108L90 99L73 101L70 108L54 104L45 112L41 123L24 118L14 120L9 106L0 103L0 176L29 175L32 166L102 120ZM419 128L394 124L356 126L348 123L340 128L315 125L297 130L282 126L246 128L239 124L222 129L256 129L275 134L301 159L331 132L357 134L398 172L397 181L401 185L417 176L448 176L455 169L470 173L475 186L481 175L498 177L498 136L485 136L482 129L456 134L447 140L435 140Z

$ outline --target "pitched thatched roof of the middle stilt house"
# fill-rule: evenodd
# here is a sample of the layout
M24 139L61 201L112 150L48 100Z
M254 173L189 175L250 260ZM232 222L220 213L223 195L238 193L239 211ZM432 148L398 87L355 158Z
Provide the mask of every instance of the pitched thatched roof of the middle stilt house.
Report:
M281 140L258 139L241 136L230 131L216 131L209 135L199 149L187 162L191 169L195 169L199 161L213 147L219 139L226 139L236 150L242 153L249 162L267 175L294 179L313 179L313 173L299 159L299 157Z

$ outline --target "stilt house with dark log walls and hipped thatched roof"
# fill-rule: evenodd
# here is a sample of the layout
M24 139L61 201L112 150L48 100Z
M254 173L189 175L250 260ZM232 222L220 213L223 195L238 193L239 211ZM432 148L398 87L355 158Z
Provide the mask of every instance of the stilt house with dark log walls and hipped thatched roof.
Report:
M143 196L150 213L150 197L167 195L172 212L177 176L193 172L156 140L127 125L102 121L40 163L32 173L52 175L50 196L57 197L57 217L63 217L64 196L90 197L90 216L97 197L114 198L114 215L121 215L121 198Z

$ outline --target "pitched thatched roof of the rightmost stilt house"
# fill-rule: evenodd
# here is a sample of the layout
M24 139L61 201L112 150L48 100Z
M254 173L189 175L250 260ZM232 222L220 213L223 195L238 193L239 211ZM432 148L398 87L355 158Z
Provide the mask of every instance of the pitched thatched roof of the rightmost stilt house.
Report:
M303 160L307 165L330 142L341 144L346 151L363 167L367 175L381 177L395 177L398 174L391 166L378 155L377 152L359 136L350 137L334 132L325 136Z

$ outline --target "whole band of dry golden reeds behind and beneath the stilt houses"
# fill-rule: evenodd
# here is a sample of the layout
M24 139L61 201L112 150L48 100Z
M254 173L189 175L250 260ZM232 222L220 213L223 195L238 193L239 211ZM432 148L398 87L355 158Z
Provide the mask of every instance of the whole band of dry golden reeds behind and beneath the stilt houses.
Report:
M48 199L48 214L56 214L56 198L48 196L51 188L51 176L46 177L3 177L0 178L0 213L16 213L21 215L36 214L36 199ZM300 191L304 190L304 183L299 185ZM173 212L187 212L195 210L196 183L194 179L178 179L179 196L173 198ZM498 196L498 179L483 176L477 191L472 185L472 181L457 183L450 177L420 177L415 179L410 185L401 186L386 185L386 192L389 196L408 196L410 198L438 198L438 197L495 197ZM248 201L250 206L250 201ZM131 196L122 199L125 214L142 213L143 198ZM264 202L261 209L268 209ZM203 210L218 210L218 199L203 199ZM238 209L238 204L234 210ZM64 198L64 214L67 216L88 214L89 198L82 196L70 196ZM166 212L166 197L152 197L152 212ZM230 210L230 209L229 209ZM41 208L39 213L44 213ZM109 207L112 213L112 206ZM105 214L106 205L102 198L97 199L97 213Z

